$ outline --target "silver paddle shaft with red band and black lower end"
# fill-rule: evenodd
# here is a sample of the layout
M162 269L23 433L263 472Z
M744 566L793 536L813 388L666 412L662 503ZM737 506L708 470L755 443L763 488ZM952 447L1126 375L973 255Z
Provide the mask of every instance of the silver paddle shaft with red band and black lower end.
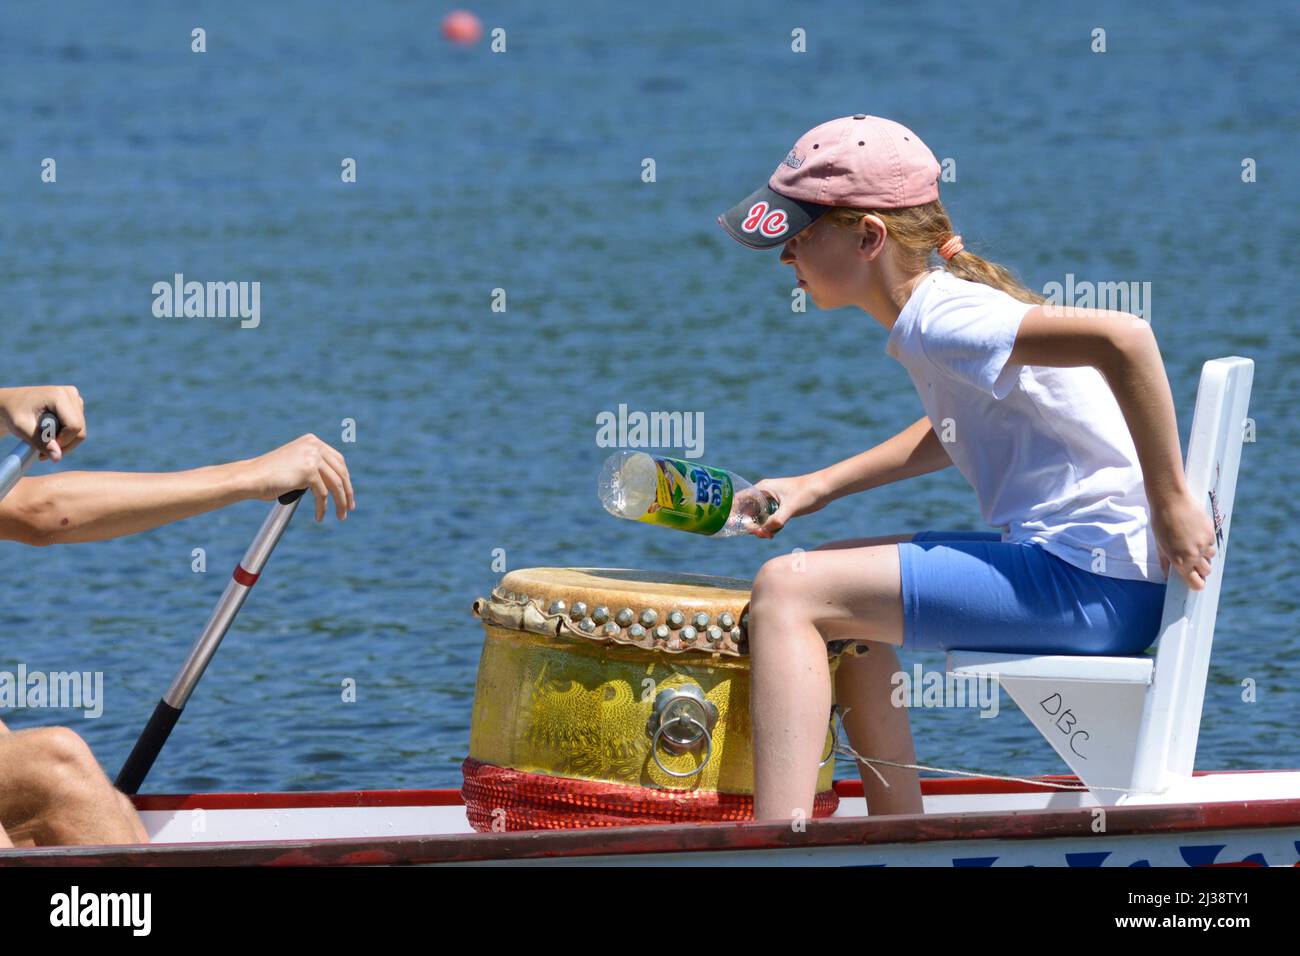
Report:
M296 492L286 492L270 506L270 514L261 523L257 537L252 540L248 550L244 551L243 561L235 564L235 571L226 583L226 589L222 592L221 600L217 601L212 617L208 618L203 633L199 635L199 640L195 641L194 648L190 650L190 657L182 665L181 670L177 671L176 678L172 680L172 687L168 688L168 692L162 695L162 700L153 709L153 715L150 717L150 722L144 726L140 739L135 741L131 754L126 758L126 763L122 765L114 786L124 793L134 795L139 792L140 784L144 782L150 769L153 766L153 761L157 760L159 752L162 749L162 744L166 743L172 728L176 727L181 711L185 710L186 701L190 700L190 695L199 683L199 678L203 676L208 661L217 653L221 639L226 636L226 631L234 623L235 614L243 606L244 598L248 596L252 585L257 583L257 576L285 533L285 528L289 527L289 519L294 516L298 501L306 490L303 488Z

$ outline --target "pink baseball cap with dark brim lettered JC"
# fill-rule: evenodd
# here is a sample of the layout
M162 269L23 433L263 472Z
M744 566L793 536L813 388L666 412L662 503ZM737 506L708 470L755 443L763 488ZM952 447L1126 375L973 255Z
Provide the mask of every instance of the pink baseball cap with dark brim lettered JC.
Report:
M939 199L939 160L902 124L857 113L814 126L766 186L718 217L732 238L771 248L832 207L896 209Z

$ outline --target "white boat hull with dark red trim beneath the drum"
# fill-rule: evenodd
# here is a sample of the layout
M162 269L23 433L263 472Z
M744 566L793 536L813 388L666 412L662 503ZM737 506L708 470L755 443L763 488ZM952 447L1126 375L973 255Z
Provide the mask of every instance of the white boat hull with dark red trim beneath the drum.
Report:
M459 791L140 796L153 842L0 851L0 865L1300 865L1300 771L1197 774L1196 803L1106 806L1070 777L931 779L923 814L474 832ZM1249 792L1249 799L1223 799ZM1098 821L1101 825L1098 826Z

